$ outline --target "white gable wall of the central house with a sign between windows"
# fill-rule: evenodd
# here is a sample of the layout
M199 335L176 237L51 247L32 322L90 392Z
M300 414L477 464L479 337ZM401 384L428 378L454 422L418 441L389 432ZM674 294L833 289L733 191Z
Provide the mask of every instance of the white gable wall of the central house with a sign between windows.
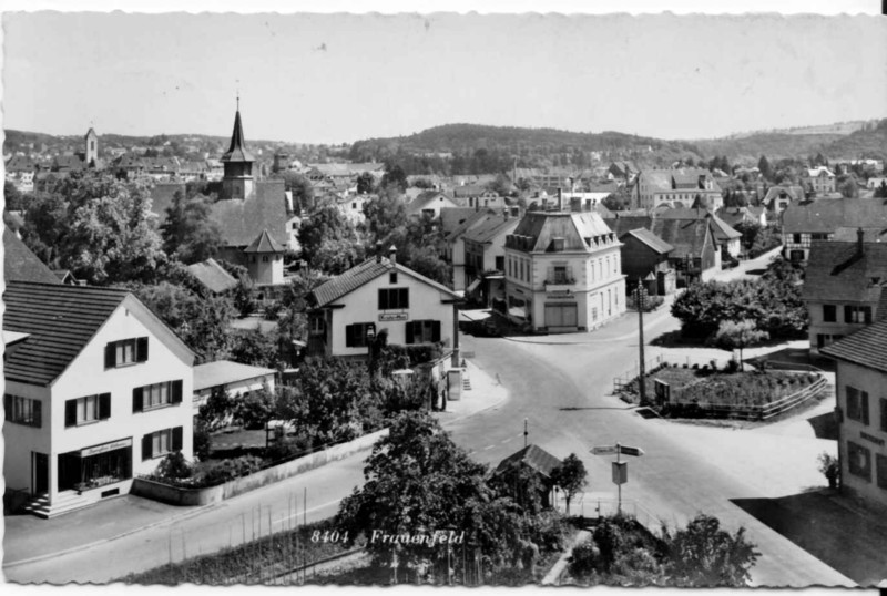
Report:
M408 288L409 308L380 310L378 291L380 288ZM327 350L329 356L359 356L368 353L367 348L349 348L346 346L345 328L354 323L376 325L376 333L388 330L388 343L405 345L407 341L406 323L416 320L440 321L440 340L452 347L453 308L451 304L442 304L451 297L437 288L402 273L397 273L397 281L391 282L385 274L365 284L350 294L341 297L336 304L345 305L329 312L332 342ZM397 319L397 320L383 320Z

